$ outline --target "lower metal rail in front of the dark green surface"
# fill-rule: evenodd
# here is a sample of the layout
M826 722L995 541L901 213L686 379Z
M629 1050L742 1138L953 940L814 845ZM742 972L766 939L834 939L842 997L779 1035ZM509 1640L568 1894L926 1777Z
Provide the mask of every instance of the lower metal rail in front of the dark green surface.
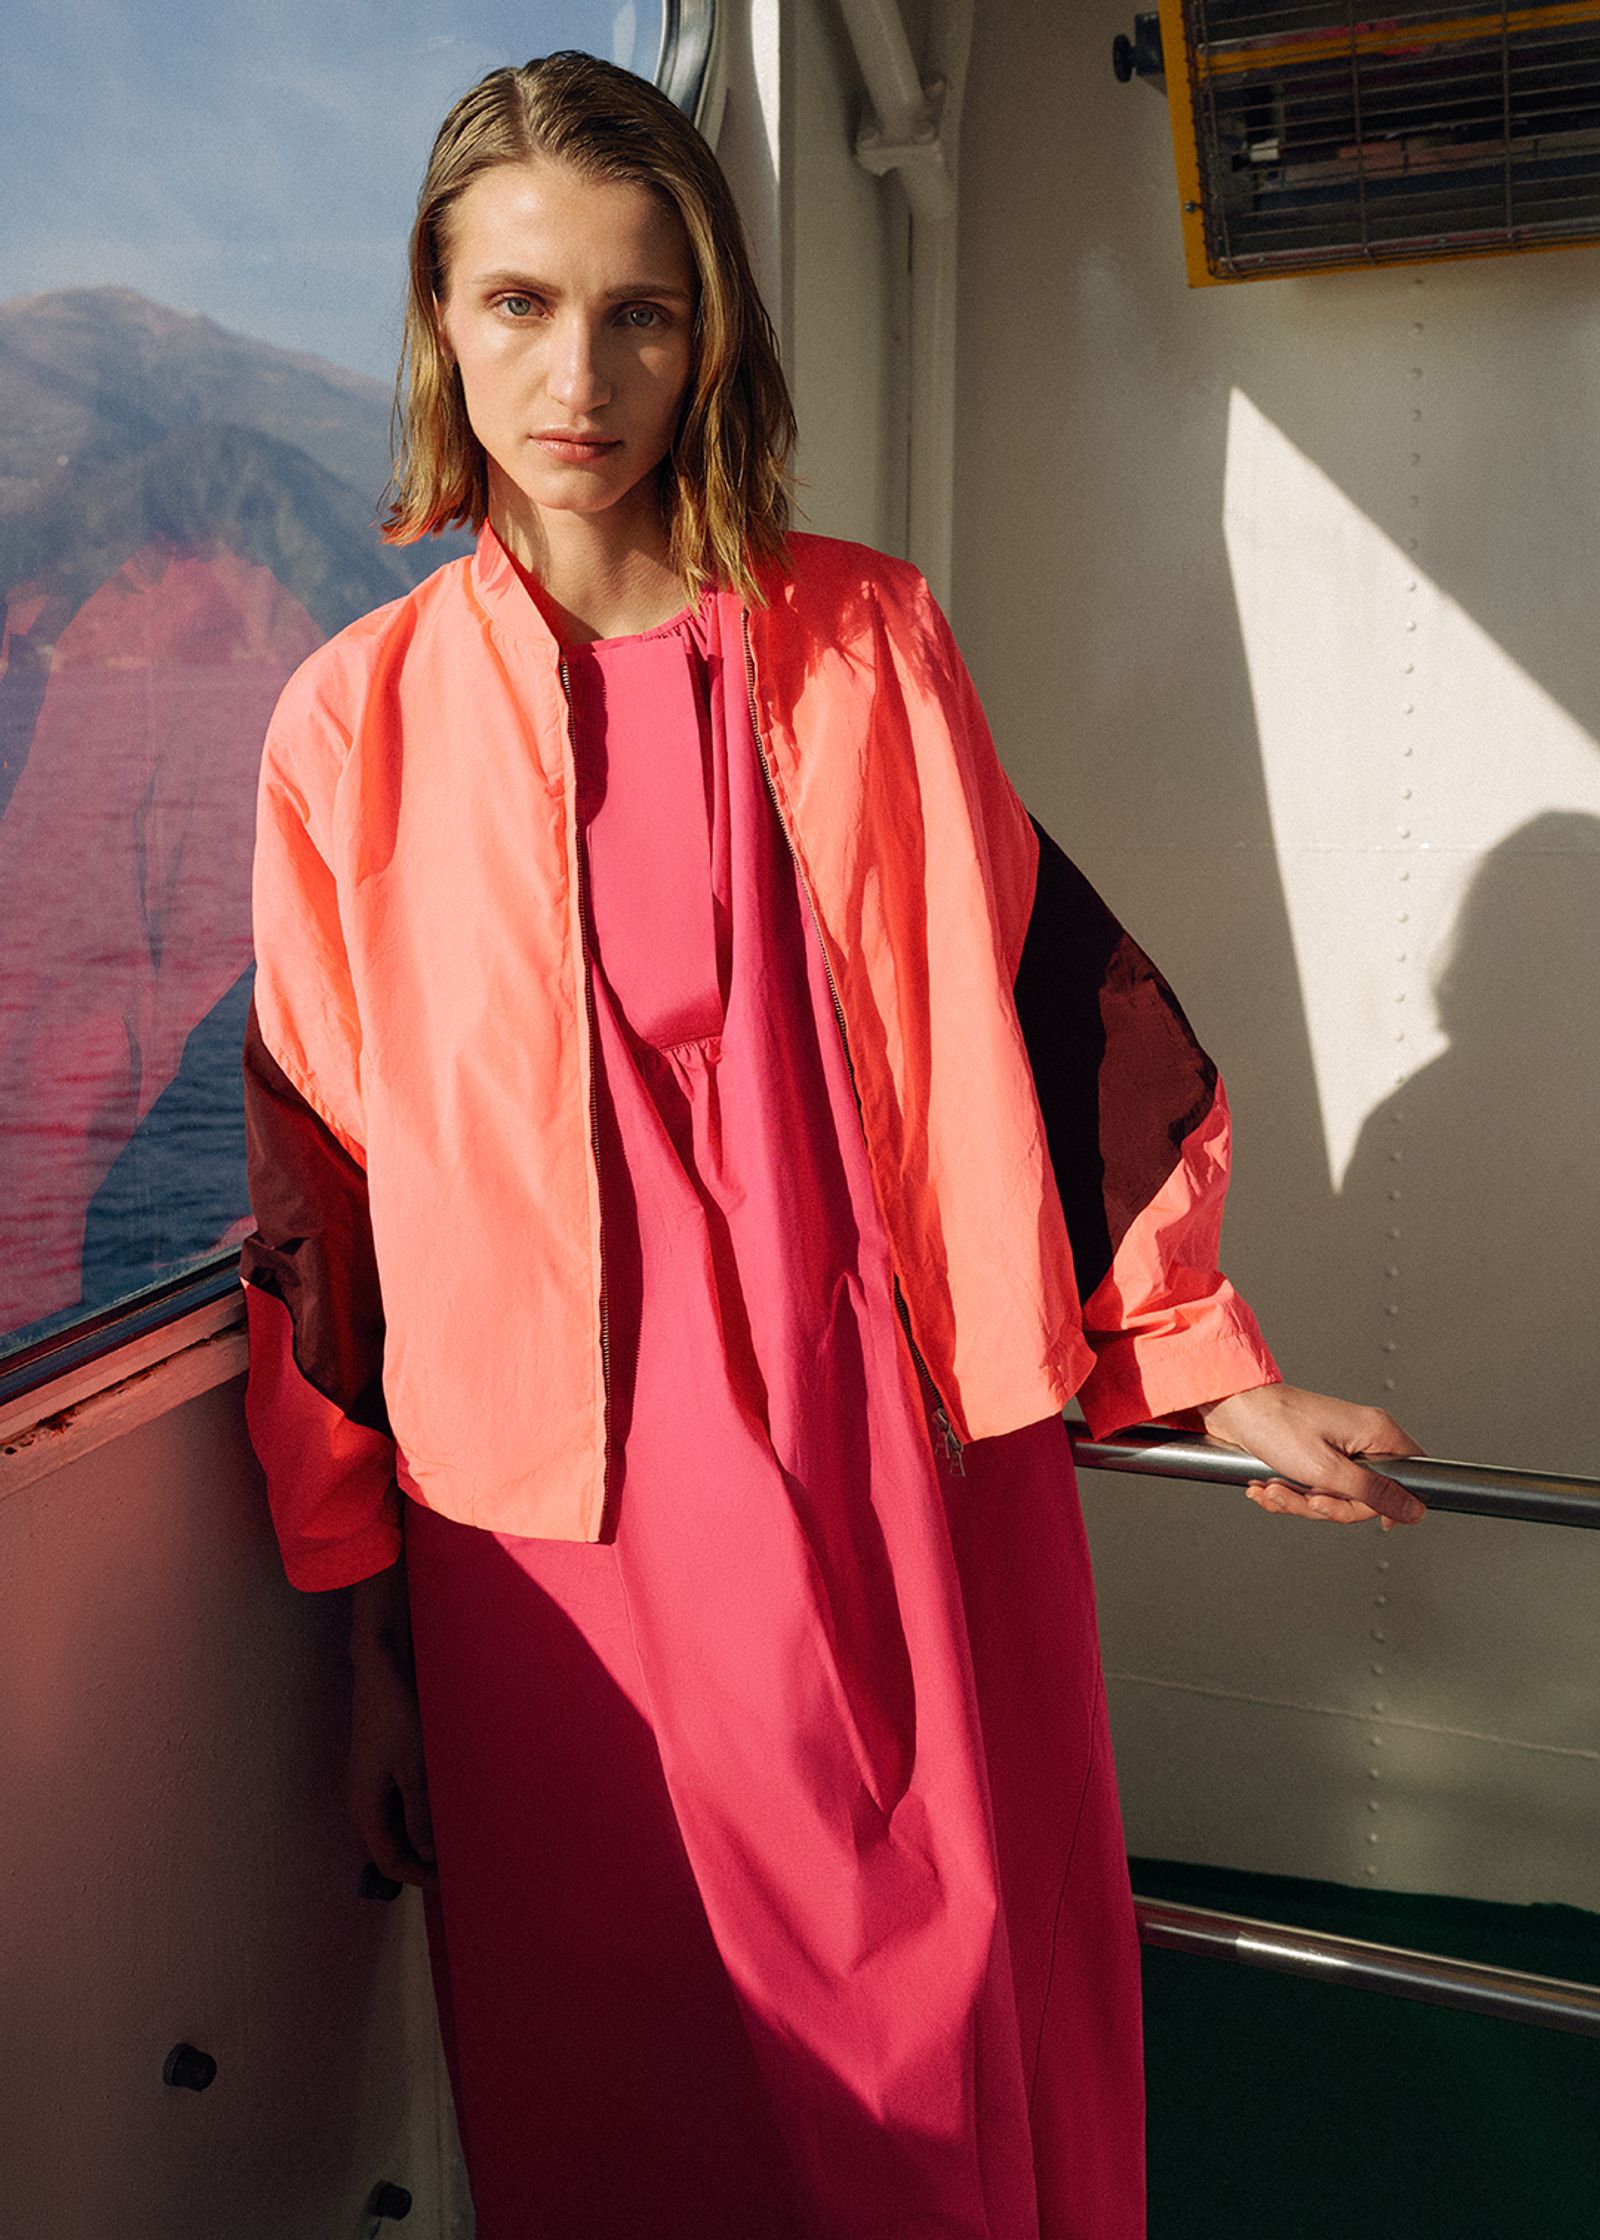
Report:
M1282 1976L1313 1976L1360 1991L1416 1998L1430 2007L1457 2007L1466 2014L1492 2014L1510 2023L1537 2023L1542 2029L1600 2038L1600 1987L1589 1982L1522 1976L1517 1969L1479 1967L1477 1960L1448 1960L1443 1953L1324 1935L1289 1922L1255 1922L1244 1913L1215 1913L1210 1906L1170 1906L1154 1897L1134 1897L1134 1913L1138 1942L1159 1951L1244 1960L1248 1967L1268 1967Z

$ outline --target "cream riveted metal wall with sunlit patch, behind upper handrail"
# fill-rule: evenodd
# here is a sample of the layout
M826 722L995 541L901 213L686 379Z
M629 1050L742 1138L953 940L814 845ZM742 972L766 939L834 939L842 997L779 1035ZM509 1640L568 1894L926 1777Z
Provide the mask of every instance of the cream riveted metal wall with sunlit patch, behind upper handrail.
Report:
M1600 251L1185 289L1129 16L979 16L955 623L1224 1066L1286 1371L1600 1476ZM1087 1505L1134 1850L1600 1904L1591 1534Z

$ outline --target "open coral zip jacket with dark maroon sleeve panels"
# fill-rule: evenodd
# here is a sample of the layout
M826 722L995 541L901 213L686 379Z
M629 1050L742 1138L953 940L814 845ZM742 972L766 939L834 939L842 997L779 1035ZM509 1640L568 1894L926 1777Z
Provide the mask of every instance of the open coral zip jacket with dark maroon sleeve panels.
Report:
M796 535L766 605L713 598L713 668L751 699L950 1436L1073 1393L1109 1429L1275 1378L1217 1270L1215 1068L1022 809L921 576ZM289 1575L390 1561L397 1476L466 1523L601 1537L569 710L493 531L289 681L255 948L242 1272Z

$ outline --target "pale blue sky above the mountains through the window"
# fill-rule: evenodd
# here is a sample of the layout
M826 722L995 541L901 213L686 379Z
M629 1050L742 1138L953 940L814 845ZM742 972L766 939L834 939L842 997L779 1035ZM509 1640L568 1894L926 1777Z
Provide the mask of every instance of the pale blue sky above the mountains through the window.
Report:
M659 25L659 0L11 0L0 300L132 287L388 383L450 101L556 47L652 72Z

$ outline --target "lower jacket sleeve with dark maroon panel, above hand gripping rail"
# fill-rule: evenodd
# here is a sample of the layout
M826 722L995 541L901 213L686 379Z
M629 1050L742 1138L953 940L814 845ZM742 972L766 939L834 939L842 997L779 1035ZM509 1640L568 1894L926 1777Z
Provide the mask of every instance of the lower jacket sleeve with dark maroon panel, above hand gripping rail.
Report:
M1096 1436L1275 1384L1217 1266L1228 1100L1183 1010L1042 827L1017 1019L1067 1214Z

